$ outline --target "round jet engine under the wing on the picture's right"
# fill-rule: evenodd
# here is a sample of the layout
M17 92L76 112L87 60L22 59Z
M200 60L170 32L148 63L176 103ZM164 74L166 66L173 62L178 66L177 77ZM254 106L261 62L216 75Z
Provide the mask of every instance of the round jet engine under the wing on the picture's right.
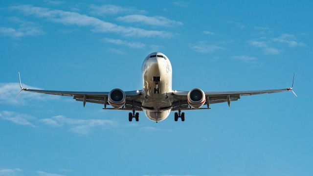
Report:
M188 92L187 101L192 108L198 109L205 103L205 94L200 88L194 88Z

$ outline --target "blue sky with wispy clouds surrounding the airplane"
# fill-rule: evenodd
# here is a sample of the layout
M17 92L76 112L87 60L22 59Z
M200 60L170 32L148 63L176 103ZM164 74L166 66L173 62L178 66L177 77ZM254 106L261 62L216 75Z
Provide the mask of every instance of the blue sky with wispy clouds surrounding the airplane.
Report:
M1 1L0 176L312 176L313 1ZM160 51L173 88L288 88L174 114L102 110L26 88L142 86Z

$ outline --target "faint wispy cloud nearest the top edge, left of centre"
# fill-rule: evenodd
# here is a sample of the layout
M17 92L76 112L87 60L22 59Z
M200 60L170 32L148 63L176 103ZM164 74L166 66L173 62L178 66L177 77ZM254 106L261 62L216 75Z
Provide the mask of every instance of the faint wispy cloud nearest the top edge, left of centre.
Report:
M144 10L139 10L134 7L122 7L112 4L105 4L105 5L90 5L91 14L92 15L115 15L115 14L121 14L121 13L136 13L141 14L145 13Z

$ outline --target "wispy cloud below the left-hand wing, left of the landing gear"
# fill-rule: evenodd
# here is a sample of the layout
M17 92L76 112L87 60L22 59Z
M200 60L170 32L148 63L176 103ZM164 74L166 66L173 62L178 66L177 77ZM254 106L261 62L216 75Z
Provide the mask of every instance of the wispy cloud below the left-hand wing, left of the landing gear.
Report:
M57 115L51 118L41 119L40 121L51 127L69 127L71 132L83 135L89 134L91 128L110 128L117 126L117 123L112 120L75 119L67 118L63 115Z

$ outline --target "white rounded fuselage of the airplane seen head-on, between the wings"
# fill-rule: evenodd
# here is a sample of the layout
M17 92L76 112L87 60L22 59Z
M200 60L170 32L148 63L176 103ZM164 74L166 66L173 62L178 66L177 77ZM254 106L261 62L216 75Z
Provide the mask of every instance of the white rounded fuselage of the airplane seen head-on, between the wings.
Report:
M142 80L142 107L146 116L156 122L166 119L172 106L172 65L169 59L160 52L149 54L142 64Z

